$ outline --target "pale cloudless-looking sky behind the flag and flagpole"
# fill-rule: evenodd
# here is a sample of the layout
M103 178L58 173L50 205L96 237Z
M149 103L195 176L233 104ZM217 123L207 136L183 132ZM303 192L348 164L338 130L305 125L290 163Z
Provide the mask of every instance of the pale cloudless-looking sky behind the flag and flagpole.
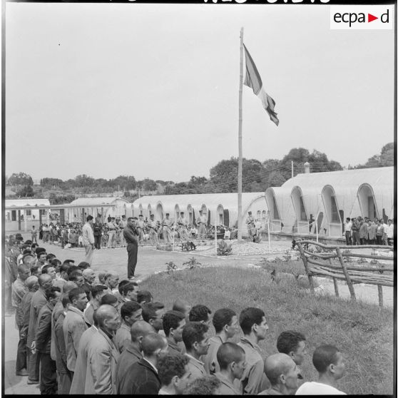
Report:
M394 30L331 30L330 6L6 3L6 175L208 178L238 156L241 27L280 119L243 86L245 158L394 141Z

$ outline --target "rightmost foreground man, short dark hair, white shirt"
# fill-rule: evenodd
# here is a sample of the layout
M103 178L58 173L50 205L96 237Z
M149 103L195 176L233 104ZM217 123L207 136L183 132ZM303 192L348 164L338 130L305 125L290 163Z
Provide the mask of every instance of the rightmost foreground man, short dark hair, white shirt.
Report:
M337 380L345 374L344 358L337 347L317 347L312 355L312 363L319 373L319 380L302 384L296 395L347 395L336 388Z

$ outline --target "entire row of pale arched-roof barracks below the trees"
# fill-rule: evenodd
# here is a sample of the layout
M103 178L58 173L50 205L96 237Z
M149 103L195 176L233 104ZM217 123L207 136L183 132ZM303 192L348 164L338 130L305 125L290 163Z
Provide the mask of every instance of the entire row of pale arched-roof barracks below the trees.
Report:
M267 188L265 192L242 194L243 236L248 234L245 220L250 211L257 227L272 235L315 234L330 238L345 236L347 218L367 218L387 225L394 218L394 168L364 168L354 170L310 173L306 172L290 178L280 187ZM31 200L32 201L32 200ZM29 210L24 210L14 200L6 200L6 220L16 222L16 211L21 211L25 230L31 225L36 229L43 223ZM101 218L101 223L109 217L123 215L162 223L165 214L176 222L184 213L188 227L198 227L197 220L205 217L206 227L223 225L229 230L238 227L238 200L236 193L214 193L195 195L151 195L128 203L123 198L79 198L69 205L55 207L46 213L46 224L51 222L51 213L63 223L84 223L91 214ZM55 217L55 216L54 216ZM30 224L29 224L30 223ZM8 230L12 228L7 227Z

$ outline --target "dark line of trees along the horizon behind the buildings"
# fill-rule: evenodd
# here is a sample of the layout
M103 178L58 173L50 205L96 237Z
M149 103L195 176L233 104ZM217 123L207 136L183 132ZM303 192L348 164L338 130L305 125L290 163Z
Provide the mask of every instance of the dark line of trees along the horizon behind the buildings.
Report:
M293 162L293 166L292 166ZM261 192L267 188L280 186L286 180L304 173L305 162L310 163L311 173L342 170L342 165L327 158L325 153L316 149L292 148L281 160L243 158L242 190L243 192ZM373 155L366 163L349 165L349 168L374 168L394 165L394 143L383 146L381 153ZM70 203L76 195L84 193L113 193L123 191L130 200L135 200L140 193L163 193L178 195L190 193L231 193L238 190L238 158L220 160L210 168L210 178L191 176L189 181L174 183L173 181L136 180L133 175L119 175L116 178L92 178L86 174L76 178L61 180L60 178L42 178L39 190L32 188L34 181L26 173L14 173L6 177L6 184L15 186L19 197L39 197L47 193L51 204Z

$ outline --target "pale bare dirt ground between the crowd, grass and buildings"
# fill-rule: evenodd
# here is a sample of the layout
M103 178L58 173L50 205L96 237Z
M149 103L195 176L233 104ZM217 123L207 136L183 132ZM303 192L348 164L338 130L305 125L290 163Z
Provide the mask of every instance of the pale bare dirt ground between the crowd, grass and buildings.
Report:
M266 244L266 243L264 243ZM48 253L53 253L59 260L63 261L67 258L75 260L76 265L85 258L83 248L61 249L57 245L40 244L46 248ZM274 245L275 250L281 252L284 248L289 248L289 242L277 242ZM272 253L270 253L272 255ZM275 257L275 254L273 254ZM149 275L156 272L165 271L166 262L173 261L177 267L182 267L183 262L190 257L200 262L203 266L227 266L227 267L256 267L264 255L245 255L232 257L215 257L215 248L210 246L198 247L198 252L167 252L155 250L152 247L140 247L138 249L138 264L136 267L136 275L139 280L143 280ZM275 264L277 267L277 264ZM126 248L101 249L94 250L93 253L93 270L98 272L103 270L113 270L118 272L121 280L127 276L127 252ZM320 294L335 295L332 280L318 278L320 284ZM357 300L377 304L378 293L377 287L373 285L355 285L355 293ZM340 297L349 299L349 291L347 285L340 283ZM392 307L394 304L394 291L392 287L384 287L384 306ZM4 318L4 392L6 394L39 394L37 385L31 386L26 384L26 377L15 375L15 359L16 347L18 345L18 333L15 326L15 317Z

